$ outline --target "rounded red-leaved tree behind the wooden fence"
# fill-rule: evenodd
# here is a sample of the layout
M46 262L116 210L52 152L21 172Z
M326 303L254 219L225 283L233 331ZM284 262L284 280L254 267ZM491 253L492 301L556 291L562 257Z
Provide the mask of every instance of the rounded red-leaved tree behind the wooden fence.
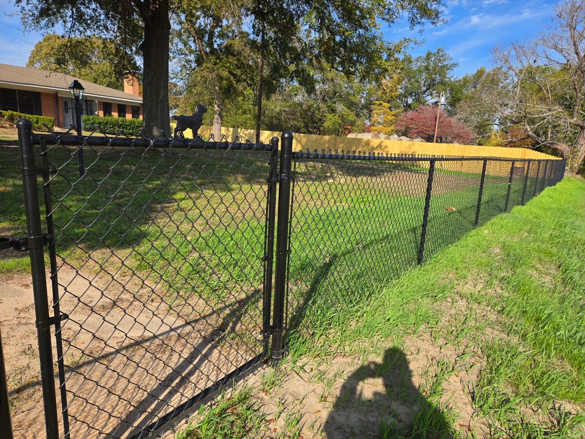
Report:
M433 141L435 134L435 121L437 108L418 107L414 111L409 111L396 121L396 133L400 136L409 138L421 138L426 142ZM462 143L469 144L473 140L473 134L465 125L450 118L443 110L439 112L439 127L437 129L438 143Z

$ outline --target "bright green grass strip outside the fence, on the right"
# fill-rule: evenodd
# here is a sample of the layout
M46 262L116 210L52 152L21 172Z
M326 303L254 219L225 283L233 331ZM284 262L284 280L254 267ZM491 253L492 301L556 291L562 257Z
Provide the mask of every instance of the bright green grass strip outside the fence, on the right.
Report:
M364 286L367 300L314 314L310 331L291 333L288 361L368 358L431 330L436 344L456 348L453 367L470 355L483 360L471 396L492 437L579 437L584 272L585 184L565 179L386 286ZM452 308L461 301L467 306ZM432 431L432 419L416 416L419 431Z

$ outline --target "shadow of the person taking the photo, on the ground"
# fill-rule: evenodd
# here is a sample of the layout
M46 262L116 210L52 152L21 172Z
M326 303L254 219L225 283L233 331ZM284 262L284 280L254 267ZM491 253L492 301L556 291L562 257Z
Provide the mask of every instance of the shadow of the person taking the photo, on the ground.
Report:
M381 438L453 437L445 414L412 382L408 359L398 348L386 349L381 362L365 363L347 378L324 431L328 439L376 433Z

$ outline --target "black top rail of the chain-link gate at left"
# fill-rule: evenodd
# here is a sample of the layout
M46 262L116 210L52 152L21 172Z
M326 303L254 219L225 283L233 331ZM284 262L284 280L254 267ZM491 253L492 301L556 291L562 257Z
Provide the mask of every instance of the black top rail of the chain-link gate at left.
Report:
M273 142L269 143L252 143L246 142L228 142L225 138L216 142L215 140L198 139L169 139L148 137L135 138L128 136L89 135L77 136L73 134L40 134L32 133L31 140L33 145L39 145L41 140L47 143L63 146L121 146L121 147L139 147L139 148L169 148L173 149L218 149L218 150L261 150L271 151L274 148Z

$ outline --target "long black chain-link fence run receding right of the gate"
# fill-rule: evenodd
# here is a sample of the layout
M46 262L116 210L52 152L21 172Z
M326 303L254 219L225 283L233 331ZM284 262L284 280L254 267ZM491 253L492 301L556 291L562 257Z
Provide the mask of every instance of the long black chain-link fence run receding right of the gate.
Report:
M564 160L295 152L287 328L352 306L565 171ZM331 315L331 314L329 314Z

